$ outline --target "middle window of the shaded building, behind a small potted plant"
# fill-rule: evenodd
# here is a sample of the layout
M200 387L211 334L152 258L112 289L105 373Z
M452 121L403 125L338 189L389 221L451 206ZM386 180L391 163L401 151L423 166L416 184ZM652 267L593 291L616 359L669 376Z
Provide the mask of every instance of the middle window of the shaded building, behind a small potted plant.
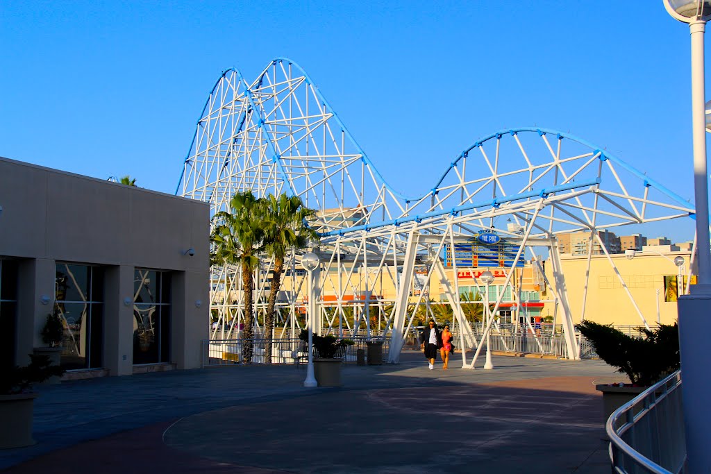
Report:
M54 311L64 323L60 365L66 370L102 367L103 296L100 266L57 264Z

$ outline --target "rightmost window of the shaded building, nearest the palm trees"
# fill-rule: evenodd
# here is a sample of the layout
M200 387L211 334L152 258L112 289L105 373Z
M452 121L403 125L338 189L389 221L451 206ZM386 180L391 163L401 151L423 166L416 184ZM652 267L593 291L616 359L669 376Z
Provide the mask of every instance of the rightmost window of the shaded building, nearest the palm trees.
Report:
M134 364L170 362L171 278L165 271L134 274Z

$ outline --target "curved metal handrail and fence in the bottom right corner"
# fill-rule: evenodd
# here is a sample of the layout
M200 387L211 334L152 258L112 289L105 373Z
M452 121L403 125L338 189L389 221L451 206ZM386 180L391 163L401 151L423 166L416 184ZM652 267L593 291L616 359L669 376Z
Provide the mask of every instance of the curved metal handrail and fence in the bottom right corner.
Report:
M681 414L681 372L677 370L665 379L654 384L632 399L630 402L616 409L607 419L605 431L610 438L609 455L612 461L614 473L631 474L631 473L651 473L651 474L679 474L685 472L685 440L683 433L683 417ZM669 402L669 403L667 403ZM665 404L665 406L660 406ZM658 416L658 411L677 409L676 413L670 416ZM656 426L646 426L645 433L640 433L641 436L636 438L634 429L636 424L647 417L651 420L649 423L654 423ZM673 426L669 426L666 421L672 421L677 424L677 432L673 432ZM638 426L639 427L639 426ZM662 432L663 431L663 432ZM641 446L630 446L623 436L630 440L638 441L636 444L641 444L642 441L650 441L644 439L652 437L653 442L649 443L647 448L650 451L656 451L655 459L649 459L642 453L638 452ZM661 437L667 436L668 443L662 443ZM634 441L630 441L635 444ZM664 444L666 453L662 454L661 446ZM678 448L678 453L674 448ZM665 457L665 460L661 460ZM663 467L659 463L664 463L668 468ZM671 470L670 470L671 469Z

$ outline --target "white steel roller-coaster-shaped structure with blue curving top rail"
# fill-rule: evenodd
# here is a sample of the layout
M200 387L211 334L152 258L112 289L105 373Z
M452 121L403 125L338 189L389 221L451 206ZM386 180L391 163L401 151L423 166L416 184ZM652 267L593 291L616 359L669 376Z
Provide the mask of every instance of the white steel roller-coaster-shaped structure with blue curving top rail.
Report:
M291 60L278 58L252 82L238 70L223 72L198 120L176 194L209 202L213 213L226 210L232 194L247 189L258 196L282 192L301 196L319 211L310 224L322 235L316 249L324 262L317 276L321 317L316 329L355 333L364 322L370 336L377 314L378 326L392 335L390 362L399 360L418 308L429 308L427 292L415 291L422 279L415 275L439 281L459 326L460 343L477 348L475 360L479 354L478 341L461 311L457 281L448 281L442 264L447 246L454 248L478 232L495 230L518 244L509 264L532 259L537 265L535 254L526 254L526 249L550 249L555 281L548 284L560 303L567 353L574 358L579 348L572 325L578 318L573 314L576 308L567 304L556 235L588 231L592 252L593 239L599 240L597 230L694 214L689 203L660 183L604 149L560 131L536 127L498 131L446 162L447 170L427 193L410 197L397 193L306 72ZM606 252L604 242L599 243ZM265 306L260 302L266 297L260 281L269 266L264 262L257 272L257 314ZM288 267L291 277L279 298L277 323L281 318L282 333L293 334L304 308L301 287L306 285L299 255L292 255ZM456 260L452 269L459 270ZM213 268L210 308L221 322L213 336L239 330L238 271ZM512 279L509 271L507 286L513 285ZM395 296L373 298L384 284L395 289ZM503 293L496 308L502 297ZM490 319L485 334L495 324ZM474 366L474 361L463 363Z

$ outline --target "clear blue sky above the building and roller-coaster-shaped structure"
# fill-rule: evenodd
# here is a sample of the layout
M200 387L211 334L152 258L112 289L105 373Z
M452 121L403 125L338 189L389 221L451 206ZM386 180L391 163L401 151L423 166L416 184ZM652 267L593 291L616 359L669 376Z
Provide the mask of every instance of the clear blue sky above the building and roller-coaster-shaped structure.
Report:
M0 156L174 193L220 72L285 56L404 193L477 138L535 125L693 200L688 27L661 0L627 3L5 0ZM693 222L646 234L690 239Z

